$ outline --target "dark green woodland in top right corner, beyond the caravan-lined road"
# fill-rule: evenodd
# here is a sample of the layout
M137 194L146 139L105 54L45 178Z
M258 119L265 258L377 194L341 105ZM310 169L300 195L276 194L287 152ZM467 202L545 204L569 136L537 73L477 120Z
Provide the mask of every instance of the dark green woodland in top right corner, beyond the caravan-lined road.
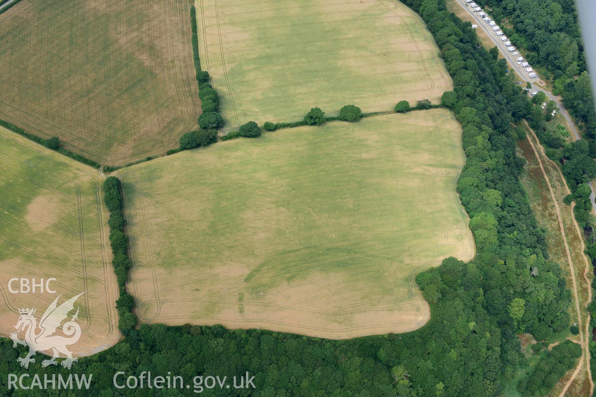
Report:
M486 0L485 4L511 42L527 51L528 62L548 71L544 77L554 79L553 93L563 96L563 105L586 123L588 137L596 138L594 96L573 0ZM514 30L503 24L505 18Z

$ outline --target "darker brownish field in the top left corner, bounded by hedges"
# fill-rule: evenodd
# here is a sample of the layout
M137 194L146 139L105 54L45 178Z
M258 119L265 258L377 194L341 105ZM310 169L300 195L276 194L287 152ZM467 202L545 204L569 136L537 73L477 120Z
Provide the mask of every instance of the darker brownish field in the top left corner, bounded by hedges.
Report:
M200 113L188 7L19 2L0 15L0 119L103 165L177 147Z

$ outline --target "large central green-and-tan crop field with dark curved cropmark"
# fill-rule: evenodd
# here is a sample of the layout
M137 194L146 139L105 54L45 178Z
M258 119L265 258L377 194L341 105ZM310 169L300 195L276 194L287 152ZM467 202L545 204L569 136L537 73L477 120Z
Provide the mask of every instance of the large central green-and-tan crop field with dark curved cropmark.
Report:
M116 172L142 322L324 338L429 319L415 276L474 242L443 109L231 140Z

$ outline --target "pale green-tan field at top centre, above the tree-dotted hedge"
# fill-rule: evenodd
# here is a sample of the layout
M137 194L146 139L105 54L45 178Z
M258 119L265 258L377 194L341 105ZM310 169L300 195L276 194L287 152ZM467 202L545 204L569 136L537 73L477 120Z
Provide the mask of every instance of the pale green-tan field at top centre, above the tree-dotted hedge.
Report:
M387 111L439 101L452 81L426 25L399 1L195 0L201 67L226 129L312 107Z

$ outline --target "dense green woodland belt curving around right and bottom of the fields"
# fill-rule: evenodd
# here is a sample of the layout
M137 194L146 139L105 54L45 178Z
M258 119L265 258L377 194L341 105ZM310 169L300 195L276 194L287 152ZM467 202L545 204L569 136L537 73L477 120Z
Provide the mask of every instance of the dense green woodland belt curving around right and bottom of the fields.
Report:
M446 98L457 97L448 102L462 124L467 156L457 190L477 248L468 263L451 257L417 276L430 303L430 322L403 335L346 341L219 325L142 324L113 348L79 360L74 371L93 373L94 382L92 390L73 395L193 395L192 389L112 385L117 370L137 376L150 370L152 376L170 371L187 381L197 374L255 376L255 390L216 388L206 395L495 396L502 380L526 365L517 332L548 339L569 327L570 292L560 267L548 260L544 232L518 179L523 160L515 155L517 134L510 122L531 109L527 98L505 76L504 62L476 48L469 23L446 11L444 0L405 3L426 21L454 80L454 94ZM15 358L25 349L15 351L6 339L1 348L6 360L0 371L23 373ZM63 370L41 368L38 361L34 371ZM2 374L0 382L5 379Z

